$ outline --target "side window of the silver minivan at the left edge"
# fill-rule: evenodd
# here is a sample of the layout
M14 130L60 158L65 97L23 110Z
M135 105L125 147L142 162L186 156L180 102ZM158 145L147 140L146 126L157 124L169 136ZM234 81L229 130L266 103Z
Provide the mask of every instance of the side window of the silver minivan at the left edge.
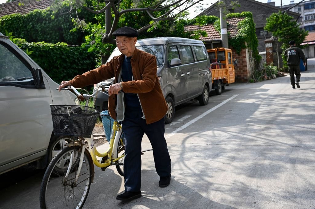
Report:
M26 82L30 80L33 80L30 69L9 49L0 44L0 84L3 82L34 84Z

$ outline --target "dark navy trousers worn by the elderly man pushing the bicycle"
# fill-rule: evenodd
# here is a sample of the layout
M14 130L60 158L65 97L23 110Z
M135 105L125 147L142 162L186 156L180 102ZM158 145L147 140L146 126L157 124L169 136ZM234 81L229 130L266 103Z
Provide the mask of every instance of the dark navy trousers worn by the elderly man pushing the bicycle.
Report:
M160 177L171 173L171 159L164 138L164 118L146 124L142 111L125 111L123 136L125 140L124 178L125 191L140 191L141 187L141 141L144 133L148 136L152 149L155 169Z

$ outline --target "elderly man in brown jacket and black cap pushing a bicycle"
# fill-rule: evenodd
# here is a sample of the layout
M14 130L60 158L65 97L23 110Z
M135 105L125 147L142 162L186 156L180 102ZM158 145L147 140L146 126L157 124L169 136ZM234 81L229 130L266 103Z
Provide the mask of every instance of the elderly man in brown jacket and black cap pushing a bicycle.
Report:
M159 186L166 187L171 179L171 161L164 138L164 116L167 105L157 78L156 57L135 47L138 32L122 27L113 32L120 56L105 65L62 81L80 88L115 77L108 89L108 110L112 118L122 121L125 140L125 192L117 200L141 197L141 140L146 133L152 149ZM116 105L117 104L117 105Z

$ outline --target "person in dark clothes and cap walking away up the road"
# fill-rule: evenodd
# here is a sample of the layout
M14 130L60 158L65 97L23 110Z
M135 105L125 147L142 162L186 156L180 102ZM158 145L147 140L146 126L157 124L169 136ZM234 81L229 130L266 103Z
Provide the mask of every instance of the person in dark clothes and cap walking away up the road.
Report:
M301 87L299 84L301 78L300 60L303 60L305 66L306 59L303 51L299 47L295 46L295 41L290 41L289 45L290 47L284 51L284 55L287 56L287 64L289 67L292 89L295 89L295 85L298 88Z

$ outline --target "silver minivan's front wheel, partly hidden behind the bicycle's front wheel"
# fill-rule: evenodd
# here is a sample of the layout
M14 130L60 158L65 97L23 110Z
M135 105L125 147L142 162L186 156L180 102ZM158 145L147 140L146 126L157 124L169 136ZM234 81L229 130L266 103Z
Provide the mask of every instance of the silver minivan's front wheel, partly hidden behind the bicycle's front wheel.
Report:
M48 163L57 155L59 151L65 148L65 144L77 140L72 136L52 135L48 147Z

